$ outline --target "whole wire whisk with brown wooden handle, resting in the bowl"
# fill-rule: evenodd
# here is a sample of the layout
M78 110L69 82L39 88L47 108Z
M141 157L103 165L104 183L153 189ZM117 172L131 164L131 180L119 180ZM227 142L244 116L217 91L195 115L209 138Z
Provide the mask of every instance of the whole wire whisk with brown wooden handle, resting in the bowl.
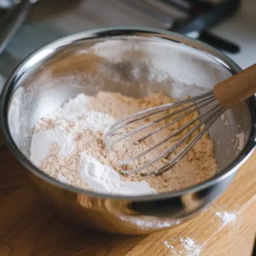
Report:
M135 133L139 131L143 131L149 126L155 125L164 119L170 119L173 116L181 113L176 119L172 119L170 122L165 125L161 125L157 127L154 131L148 132L143 137L140 137L136 143L142 143L143 140L151 137L155 133L165 129L169 125L175 124L175 122L185 118L191 113L199 111L201 108L207 107L209 104L214 104L209 110L205 113L199 114L197 117L184 124L182 127L178 128L177 131L172 132L170 136L167 136L159 143L154 144L152 147L148 148L148 150L144 151L141 154L137 154L129 159L121 160L119 162L119 172L123 174L131 174L134 172L140 172L148 166L153 165L158 160L165 158L167 155L172 154L177 150L179 146L181 146L193 133L196 133L195 137L193 137L189 143L185 145L185 147L180 150L172 159L167 160L164 166L161 166L158 170L154 172L142 172L143 176L148 175L159 175L160 173L167 172L173 166L177 165L177 163L183 159L183 157L188 154L189 150L193 148L195 143L197 143L203 134L209 129L209 127L228 109L234 107L237 103L246 100L249 96L253 96L256 92L256 64L247 69L237 73L236 75L230 77L229 79L216 84L213 87L213 90L210 90L206 93L203 93L199 96L194 96L189 99L168 103L165 105L161 105L155 108L148 108L146 110L140 111L138 113L133 113L130 116L127 116L123 119L117 121L113 126L110 127L108 132L104 135L103 141L107 145L107 148L112 148L113 144L119 143L125 138L131 137ZM178 108L177 108L178 107ZM175 110L174 108L177 108ZM141 125L136 129L131 131L127 131L125 134L122 134L120 137L114 137L113 140L111 138L117 134L117 132L127 127L127 125L131 125L141 119L147 119L150 116L153 116L158 113L162 113L166 110L173 109L174 112L168 113L163 117L155 119L146 123L145 125ZM137 160L144 155L148 154L148 152L154 150L154 148L160 147L161 144L166 143L172 137L177 136L181 132L185 131L190 125L194 124L194 127L189 130L183 137L181 137L177 143L173 144L171 148L167 148L164 152L162 152L159 156L155 157L153 160L148 161L143 166L139 166L129 171L121 170L121 166L125 166L131 163L134 160ZM197 132L195 132L197 131Z

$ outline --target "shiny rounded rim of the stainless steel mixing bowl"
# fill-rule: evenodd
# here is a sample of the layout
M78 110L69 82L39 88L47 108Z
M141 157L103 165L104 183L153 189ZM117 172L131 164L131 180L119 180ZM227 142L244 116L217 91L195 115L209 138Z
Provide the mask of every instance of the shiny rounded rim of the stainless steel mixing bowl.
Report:
M32 172L32 174L37 177L43 179L45 182L50 183L56 187L61 189L66 189L68 191L88 195L95 196L99 198L107 198L113 200L121 200L121 201L151 201L151 200L164 200L170 199L177 196L185 195L188 193L192 193L195 191L199 191L201 189L206 189L216 183L223 181L224 179L230 177L231 175L235 175L238 168L247 160L247 158L253 153L253 149L256 145L256 112L253 112L253 108L256 109L256 97L252 96L247 99L247 105L251 113L251 121L252 127L251 132L248 138L248 141L240 154L236 156L236 159L230 163L229 166L226 166L222 172L218 172L213 177L207 179L203 183L198 183L193 186L190 186L186 189L177 190L174 192L166 192L163 194L156 195L108 195L103 193L98 193L90 190L79 189L72 186L69 186L65 183L61 183L53 177L49 177L46 173L41 171L37 166L34 166L30 160L26 158L24 154L20 152L20 149L15 145L13 138L11 137L9 131L9 123L8 123L8 110L9 110L9 100L15 91L15 83L22 76L24 72L26 72L27 63L32 61L34 57L38 57L42 51L45 51L46 54L38 58L38 61L42 61L49 57L51 53L60 49L61 47L65 47L69 44L77 43L81 40L93 39L93 38L109 38L109 37L121 37L121 36L140 36L144 35L155 36L156 38L168 40L175 42L177 44L185 44L194 49L199 49L204 54L211 55L215 61L218 61L225 68L230 70L230 73L236 74L241 71L241 67L239 67L235 61L232 61L230 57L224 55L217 49L212 48L208 44L202 43L193 38L189 38L187 36L178 34L176 32L169 32L162 29L155 29L143 26L113 26L113 27L104 27L98 29L91 29L83 32L76 32L71 35L67 35L63 38L56 39L49 44L45 44L43 47L32 52L31 55L28 55L23 61L20 62L20 65L15 68L15 70L9 75L6 83L3 86L2 94L0 97L0 128L3 134L3 140L7 143L12 154L20 161L20 163L26 167L27 170ZM48 49L48 52L47 52ZM53 50L54 49L54 50Z

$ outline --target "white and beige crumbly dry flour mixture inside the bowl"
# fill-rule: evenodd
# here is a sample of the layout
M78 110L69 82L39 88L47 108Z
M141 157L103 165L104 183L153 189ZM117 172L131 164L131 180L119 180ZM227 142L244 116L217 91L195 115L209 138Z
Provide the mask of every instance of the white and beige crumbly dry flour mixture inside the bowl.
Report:
M133 139L142 137L142 134L115 144L108 152L102 142L104 132L108 131L109 126L113 125L117 119L169 102L174 102L174 99L160 93L154 93L141 99L103 91L98 92L96 96L80 94L70 99L55 113L51 113L38 121L32 136L30 159L43 172L62 183L109 194L154 194L183 189L195 183L201 183L212 177L217 171L213 155L213 143L207 133L201 137L201 140L195 144L194 148L177 166L160 176L142 177L140 173L122 175L118 172L120 160L140 154L155 143L159 143L160 140L177 131L189 120L195 119L198 115L196 112L178 120L175 124L139 144L133 143ZM134 129L138 125L158 119L165 114L172 113L172 111L167 110L165 113L159 113L134 123L128 129ZM143 135L166 122L170 122L170 119L163 120L148 128L148 130L143 131ZM192 127L193 125L181 134L172 137L167 143L126 165L125 169L130 170L145 165L163 150L170 148L173 143L177 143L177 140ZM195 135L196 133L193 134L193 136ZM186 143L189 143L189 140ZM177 148L177 152L184 145ZM177 152L149 166L143 172L152 171L165 165L167 160Z

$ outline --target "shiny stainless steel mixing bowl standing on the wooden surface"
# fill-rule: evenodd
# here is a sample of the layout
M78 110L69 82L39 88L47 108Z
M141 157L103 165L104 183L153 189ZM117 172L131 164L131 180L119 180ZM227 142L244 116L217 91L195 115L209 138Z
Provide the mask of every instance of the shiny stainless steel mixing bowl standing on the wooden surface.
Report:
M226 113L228 124L219 119L210 130L218 174L204 183L162 195L103 195L48 177L29 160L33 126L81 92L94 95L108 90L145 96L161 91L182 98L210 90L240 70L216 49L172 32L134 27L79 32L38 49L11 74L1 96L3 137L26 166L33 185L71 218L116 233L163 230L215 201L252 153L254 97ZM239 150L236 135L241 132L245 143Z

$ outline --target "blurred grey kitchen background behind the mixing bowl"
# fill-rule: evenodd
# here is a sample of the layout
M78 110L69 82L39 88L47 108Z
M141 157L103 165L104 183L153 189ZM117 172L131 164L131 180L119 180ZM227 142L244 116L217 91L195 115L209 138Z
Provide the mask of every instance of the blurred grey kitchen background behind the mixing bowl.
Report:
M242 68L256 62L256 0L0 0L0 90L33 50L102 26L181 32L220 49Z

